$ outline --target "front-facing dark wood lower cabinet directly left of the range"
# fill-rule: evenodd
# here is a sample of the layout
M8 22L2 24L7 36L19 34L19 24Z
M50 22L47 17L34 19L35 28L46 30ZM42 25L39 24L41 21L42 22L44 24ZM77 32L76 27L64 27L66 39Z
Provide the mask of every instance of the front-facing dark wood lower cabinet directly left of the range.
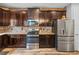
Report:
M25 35L10 35L8 48L25 48Z

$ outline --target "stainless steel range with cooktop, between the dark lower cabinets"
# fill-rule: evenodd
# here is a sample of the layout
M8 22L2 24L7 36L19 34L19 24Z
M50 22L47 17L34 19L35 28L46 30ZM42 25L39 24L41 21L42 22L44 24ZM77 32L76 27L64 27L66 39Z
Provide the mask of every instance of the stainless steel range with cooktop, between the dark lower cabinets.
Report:
M34 28L29 29L26 37L27 37L26 48L28 49L39 48L39 30L36 30Z

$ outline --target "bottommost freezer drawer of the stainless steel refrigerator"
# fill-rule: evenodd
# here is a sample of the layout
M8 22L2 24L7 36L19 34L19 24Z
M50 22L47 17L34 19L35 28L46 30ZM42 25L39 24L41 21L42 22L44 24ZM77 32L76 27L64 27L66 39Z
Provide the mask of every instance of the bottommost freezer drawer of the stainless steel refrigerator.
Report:
M74 44L73 42L67 43L67 42L58 42L58 51L74 51Z

